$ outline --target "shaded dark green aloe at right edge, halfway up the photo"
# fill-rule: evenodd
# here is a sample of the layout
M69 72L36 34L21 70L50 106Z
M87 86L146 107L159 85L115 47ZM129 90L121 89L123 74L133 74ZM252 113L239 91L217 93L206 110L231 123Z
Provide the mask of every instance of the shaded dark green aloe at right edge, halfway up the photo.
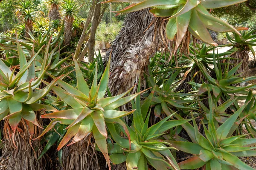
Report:
M221 69L221 63L220 63L218 54L214 56L215 57L213 58L213 63L214 63L213 73L215 74L216 79L210 76L207 68L205 68L204 65L202 65L202 63L198 61L198 59L194 58L193 60L195 61L196 65L198 65L202 74L207 79L207 83L203 83L202 85L199 83L189 82L189 84L199 87L198 94L203 94L209 89L209 91L212 91L213 95L215 96L216 102L218 102L218 99L222 99L224 102L226 102L228 99L231 98L231 95L233 95L234 93L241 94L241 96L239 96L240 100L246 99L246 96L244 95L247 95L249 93L248 89L255 88L255 85L252 84L245 87L237 87L237 86L234 86L234 84L247 82L255 79L256 77L252 76L252 77L245 78L245 77L239 77L240 74L235 74L236 71L241 66L242 62L240 62L231 70L228 70L228 64L227 65L225 64L226 65L225 70L223 71ZM239 108L237 102L235 102L235 106L236 108Z

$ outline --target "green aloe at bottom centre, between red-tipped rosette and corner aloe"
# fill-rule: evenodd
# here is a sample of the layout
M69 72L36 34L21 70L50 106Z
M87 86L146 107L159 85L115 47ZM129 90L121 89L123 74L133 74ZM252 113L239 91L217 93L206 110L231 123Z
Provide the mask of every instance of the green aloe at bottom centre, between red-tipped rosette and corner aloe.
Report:
M148 127L150 111L148 116L147 112L154 94L154 89L144 101L143 105L140 104L140 96L136 97L135 103L133 102L133 108L136 108L136 111L133 113L134 117L131 127L123 125L124 122L120 123L122 127L118 127L112 123L107 124L111 136L116 142L113 145L109 144L109 147L112 148L109 152L111 153L110 158L113 164L120 164L126 161L128 170L148 170L148 164L157 170L180 170L171 152L175 148L168 142L158 140L158 137L162 136L166 130L190 120L168 121L174 113L157 124ZM120 132L125 132L126 130L129 131L130 135L127 136L128 139L122 138L119 135Z

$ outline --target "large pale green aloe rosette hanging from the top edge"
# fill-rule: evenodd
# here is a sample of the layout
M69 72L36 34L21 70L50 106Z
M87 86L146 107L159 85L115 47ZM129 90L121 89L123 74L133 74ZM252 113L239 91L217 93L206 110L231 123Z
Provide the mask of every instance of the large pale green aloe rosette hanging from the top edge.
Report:
M241 35L238 30L247 28L234 28L226 22L213 17L207 9L222 8L246 0L108 0L107 2L129 2L133 3L119 13L127 13L138 11L144 8L152 8L150 12L155 17L169 17L166 25L166 37L170 40L176 39L176 48L180 45L187 30L196 38L217 46L210 36L207 29L216 32L236 32Z

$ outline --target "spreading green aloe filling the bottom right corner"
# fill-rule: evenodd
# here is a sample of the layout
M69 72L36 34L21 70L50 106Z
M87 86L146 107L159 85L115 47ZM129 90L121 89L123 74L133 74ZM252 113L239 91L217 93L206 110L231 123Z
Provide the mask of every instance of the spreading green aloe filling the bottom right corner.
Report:
M208 91L208 93L210 93ZM210 95L210 94L209 94ZM234 167L239 170L254 170L254 168L245 164L237 156L255 156L256 144L255 139L244 138L248 134L232 136L233 132L239 126L239 122L243 119L237 119L248 102L245 103L239 110L230 116L221 126L216 125L213 121L213 113L217 108L212 105L212 97L209 98L209 123L208 128L202 122L204 127L203 136L193 118L193 126L189 123L183 124L183 128L189 134L192 142L183 139L180 141L170 142L173 147L182 150L186 153L193 154L192 158L179 163L180 169L197 169L203 167L206 170L231 170ZM182 119L177 115L179 119Z

